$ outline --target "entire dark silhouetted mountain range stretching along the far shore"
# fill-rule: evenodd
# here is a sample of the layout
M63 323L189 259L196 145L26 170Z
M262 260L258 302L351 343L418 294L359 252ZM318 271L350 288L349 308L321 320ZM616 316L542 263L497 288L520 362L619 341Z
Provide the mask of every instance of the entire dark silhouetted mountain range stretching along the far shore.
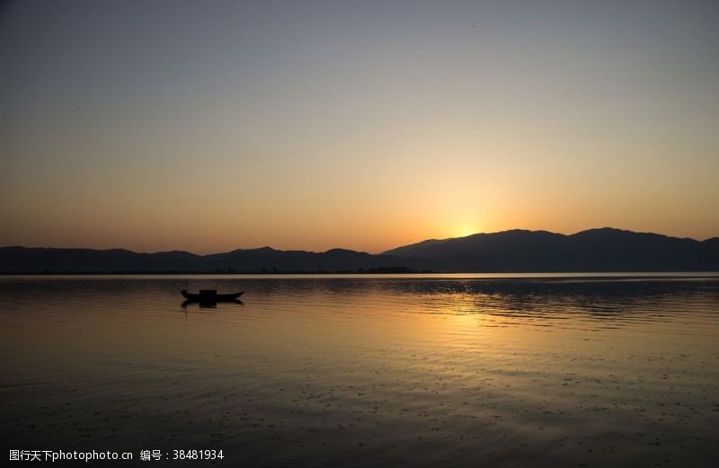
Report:
M119 272L579 272L719 271L719 237L706 241L599 228L577 234L514 229L432 239L379 254L270 247L197 255L123 249L0 247L0 273Z

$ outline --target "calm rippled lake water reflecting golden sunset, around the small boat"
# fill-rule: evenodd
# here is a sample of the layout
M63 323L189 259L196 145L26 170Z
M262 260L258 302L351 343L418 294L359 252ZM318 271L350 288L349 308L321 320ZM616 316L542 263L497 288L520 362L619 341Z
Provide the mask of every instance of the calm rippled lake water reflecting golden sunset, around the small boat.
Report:
M3 458L719 463L716 278L0 277L0 320Z

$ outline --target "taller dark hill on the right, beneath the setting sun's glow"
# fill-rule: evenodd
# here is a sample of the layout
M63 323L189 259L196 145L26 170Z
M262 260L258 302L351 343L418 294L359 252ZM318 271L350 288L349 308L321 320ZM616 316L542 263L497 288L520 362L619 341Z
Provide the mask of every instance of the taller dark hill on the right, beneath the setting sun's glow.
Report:
M704 242L610 227L564 235L515 229L424 241L383 253L455 271L716 271L719 239Z

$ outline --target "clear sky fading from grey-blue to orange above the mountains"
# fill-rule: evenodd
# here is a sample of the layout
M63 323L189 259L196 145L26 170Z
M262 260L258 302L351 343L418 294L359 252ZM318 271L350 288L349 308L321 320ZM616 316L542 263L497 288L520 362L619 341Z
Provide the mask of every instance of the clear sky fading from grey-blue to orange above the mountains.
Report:
M0 8L0 245L719 235L719 3Z

